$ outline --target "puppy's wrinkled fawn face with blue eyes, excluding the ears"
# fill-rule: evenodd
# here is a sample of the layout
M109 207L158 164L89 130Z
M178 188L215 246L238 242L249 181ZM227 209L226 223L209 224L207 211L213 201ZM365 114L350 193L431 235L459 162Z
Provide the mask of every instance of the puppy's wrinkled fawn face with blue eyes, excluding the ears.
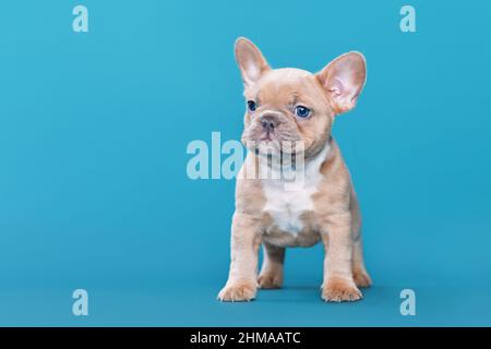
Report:
M286 153L304 148L309 155L322 149L331 135L334 112L321 84L309 72L270 70L256 84L246 87L244 96L242 142L247 146L266 142Z

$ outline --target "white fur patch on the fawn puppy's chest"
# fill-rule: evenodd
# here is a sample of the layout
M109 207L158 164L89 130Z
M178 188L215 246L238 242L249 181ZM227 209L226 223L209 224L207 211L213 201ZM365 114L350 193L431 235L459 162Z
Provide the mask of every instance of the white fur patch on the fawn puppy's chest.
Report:
M330 146L326 145L302 169L296 170L295 178L300 180L295 184L280 179L263 180L263 192L266 197L263 212L272 216L279 229L294 234L302 230L301 215L314 209L312 194L318 191L318 185L323 178L320 169L328 149Z

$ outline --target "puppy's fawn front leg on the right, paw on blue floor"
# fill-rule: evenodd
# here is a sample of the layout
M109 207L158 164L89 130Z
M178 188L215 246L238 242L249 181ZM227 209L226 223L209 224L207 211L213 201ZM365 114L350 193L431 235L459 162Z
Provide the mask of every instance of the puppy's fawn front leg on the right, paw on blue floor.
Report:
M362 298L352 278L351 222L349 215L330 217L322 232L325 249L322 298L328 302L356 301Z

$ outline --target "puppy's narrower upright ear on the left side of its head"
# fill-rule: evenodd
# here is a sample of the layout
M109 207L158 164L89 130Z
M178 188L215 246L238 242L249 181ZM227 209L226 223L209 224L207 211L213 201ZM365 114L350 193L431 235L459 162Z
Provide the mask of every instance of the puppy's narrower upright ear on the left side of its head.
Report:
M236 41L236 60L247 87L254 85L264 72L271 70L260 49L244 37Z

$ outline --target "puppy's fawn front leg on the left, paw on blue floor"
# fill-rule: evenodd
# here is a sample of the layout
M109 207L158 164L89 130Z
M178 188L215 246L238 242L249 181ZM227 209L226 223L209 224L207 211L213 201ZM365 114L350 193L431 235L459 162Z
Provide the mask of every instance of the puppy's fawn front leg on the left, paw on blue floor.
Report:
M218 293L220 301L250 301L258 290L259 220L235 214L231 229L231 261L228 280Z

